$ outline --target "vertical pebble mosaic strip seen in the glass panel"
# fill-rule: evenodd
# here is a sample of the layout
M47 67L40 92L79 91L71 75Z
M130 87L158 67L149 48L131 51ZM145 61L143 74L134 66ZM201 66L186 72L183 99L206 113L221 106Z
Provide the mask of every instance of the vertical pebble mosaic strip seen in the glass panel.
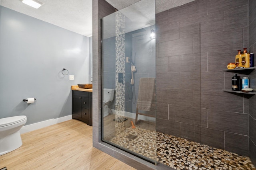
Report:
M125 85L118 82L118 73L123 74L125 80L125 33L124 15L116 12L116 119L124 120L125 109ZM124 131L124 121L116 121L115 123L116 135Z

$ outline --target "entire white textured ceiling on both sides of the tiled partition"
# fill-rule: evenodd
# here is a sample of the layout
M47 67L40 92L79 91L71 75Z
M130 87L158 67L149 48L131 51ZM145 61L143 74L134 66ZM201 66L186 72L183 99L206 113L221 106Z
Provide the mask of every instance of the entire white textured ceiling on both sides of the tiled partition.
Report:
M22 14L32 16L42 21L52 23L59 27L90 37L92 35L92 0L40 0L44 3L38 9L23 4L20 0L0 0L2 6ZM121 10L131 6L127 17L139 22L140 27L150 25L154 18L149 17L149 6L152 0L106 0L114 8ZM139 1L143 1L139 2ZM194 0L156 0L156 13L192 2ZM144 4L145 3L145 4ZM125 11L125 10L124 10ZM141 14L146 14L145 16ZM140 16L140 18L138 17ZM150 15L151 16L151 15ZM153 16L154 17L154 16ZM146 21L145 21L146 20Z

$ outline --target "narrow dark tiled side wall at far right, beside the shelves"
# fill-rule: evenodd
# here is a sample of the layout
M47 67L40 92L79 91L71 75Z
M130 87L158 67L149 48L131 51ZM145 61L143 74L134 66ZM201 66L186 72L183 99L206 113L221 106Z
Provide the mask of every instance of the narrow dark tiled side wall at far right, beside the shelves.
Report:
M249 18L248 18L248 39L249 51L254 53L254 66L256 65L256 1L249 0ZM256 92L256 70L250 75L250 88ZM249 152L250 158L256 166L256 95L249 99Z

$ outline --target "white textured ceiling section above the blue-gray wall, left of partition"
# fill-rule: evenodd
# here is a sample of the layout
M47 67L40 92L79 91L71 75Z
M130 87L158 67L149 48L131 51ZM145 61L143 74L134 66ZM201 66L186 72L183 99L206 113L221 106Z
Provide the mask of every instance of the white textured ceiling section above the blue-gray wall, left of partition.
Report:
M1 6L90 37L92 35L92 0L40 0L35 9L20 0L1 0Z

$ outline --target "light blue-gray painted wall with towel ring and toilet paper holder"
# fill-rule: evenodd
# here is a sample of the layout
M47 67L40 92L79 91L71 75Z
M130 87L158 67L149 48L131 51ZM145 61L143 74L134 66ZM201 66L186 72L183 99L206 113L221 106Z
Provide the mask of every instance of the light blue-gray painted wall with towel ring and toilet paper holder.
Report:
M71 115L71 85L89 82L89 38L2 6L0 21L0 117L26 115L28 125Z

